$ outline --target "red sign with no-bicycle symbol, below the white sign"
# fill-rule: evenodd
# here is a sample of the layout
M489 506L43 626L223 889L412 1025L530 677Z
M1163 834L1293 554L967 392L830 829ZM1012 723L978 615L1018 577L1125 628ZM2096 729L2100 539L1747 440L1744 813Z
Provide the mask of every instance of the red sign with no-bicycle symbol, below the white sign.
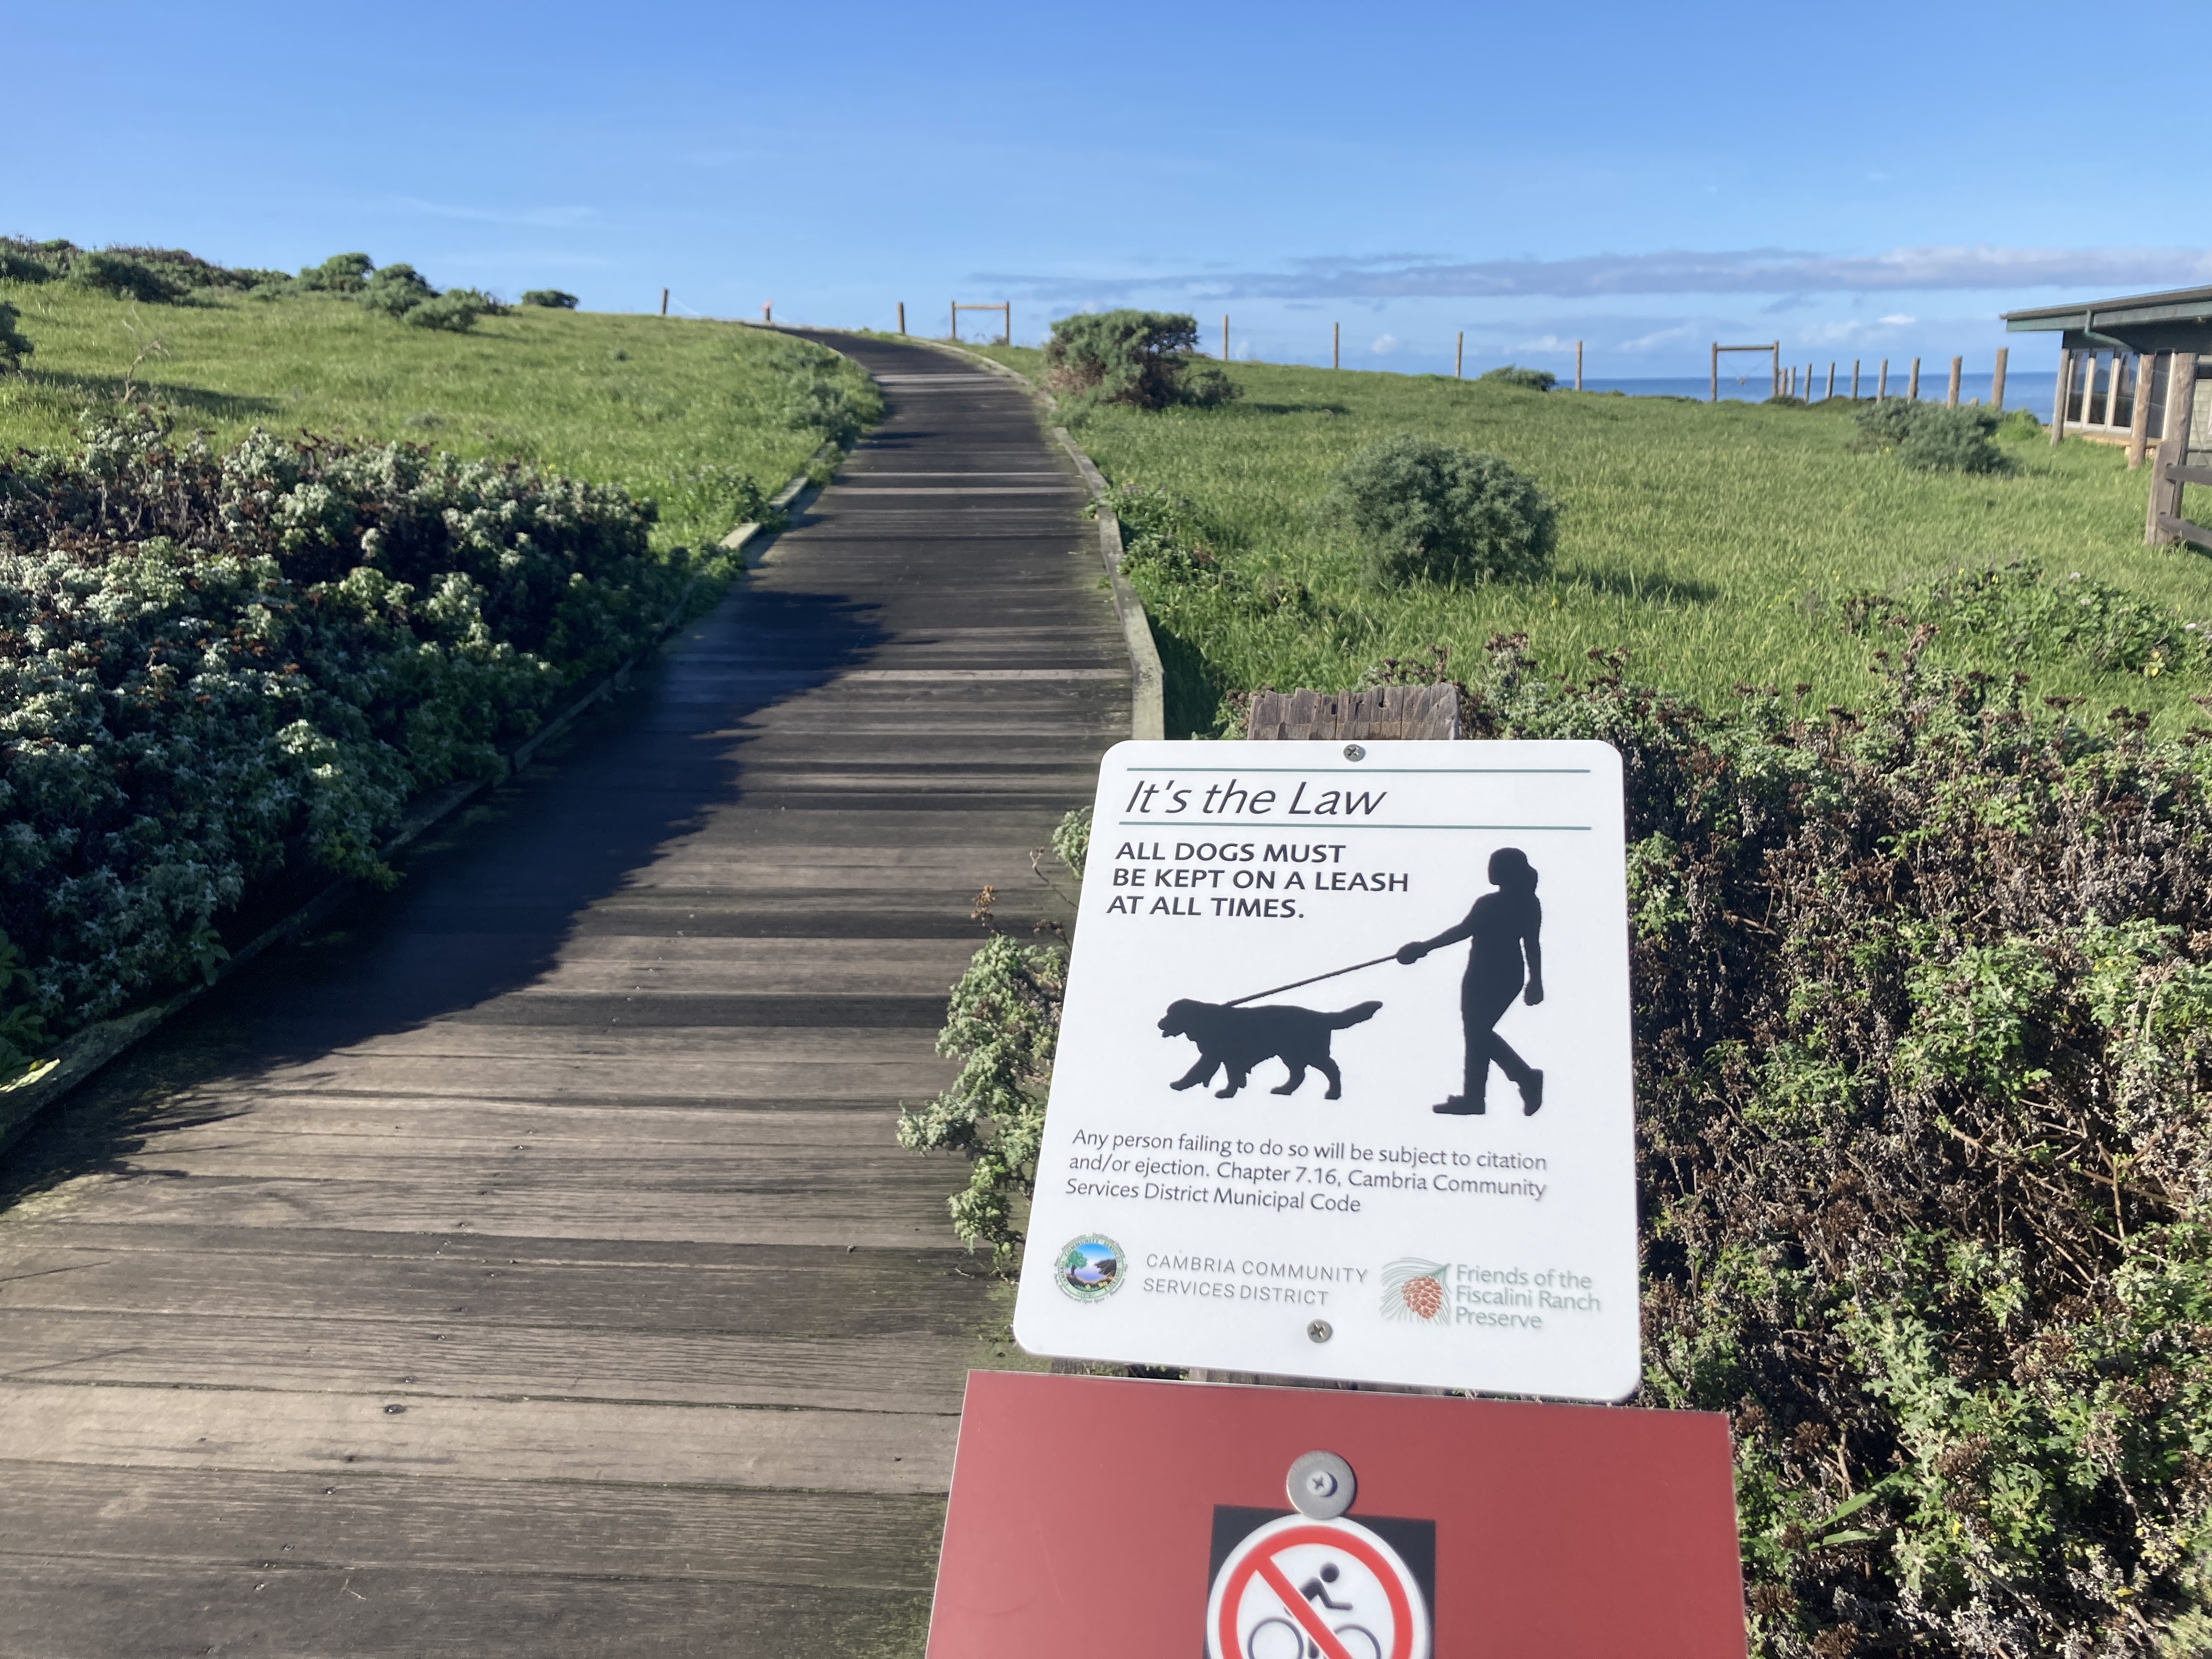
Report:
M1292 1509L1312 1451L1349 1513ZM1741 1657L1728 1422L971 1371L931 1659L1133 1652Z

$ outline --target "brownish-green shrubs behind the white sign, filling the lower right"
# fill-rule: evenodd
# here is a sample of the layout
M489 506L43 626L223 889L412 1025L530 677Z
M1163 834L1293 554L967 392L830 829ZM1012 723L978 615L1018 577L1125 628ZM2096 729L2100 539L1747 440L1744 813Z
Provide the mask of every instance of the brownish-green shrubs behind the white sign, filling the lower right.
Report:
M1644 1385L1725 1411L1765 1659L2212 1641L2212 745L1896 628L1858 712L1493 639L1628 794ZM1593 653L1597 655L1597 653ZM909 1146L1011 1261L1066 962L991 940Z

